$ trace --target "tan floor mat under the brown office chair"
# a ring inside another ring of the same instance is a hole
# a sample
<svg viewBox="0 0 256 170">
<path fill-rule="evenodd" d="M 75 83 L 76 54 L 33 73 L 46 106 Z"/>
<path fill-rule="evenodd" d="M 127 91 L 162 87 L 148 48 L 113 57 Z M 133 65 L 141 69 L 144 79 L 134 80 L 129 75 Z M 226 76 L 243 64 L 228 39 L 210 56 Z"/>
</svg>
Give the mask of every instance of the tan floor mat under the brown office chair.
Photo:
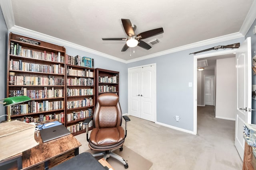
<svg viewBox="0 0 256 170">
<path fill-rule="evenodd" d="M 86 152 L 95 153 L 94 150 L 86 150 Z M 141 155 L 137 154 L 133 150 L 124 146 L 123 151 L 120 152 L 119 149 L 115 150 L 114 153 L 122 156 L 124 160 L 128 163 L 128 170 L 149 170 L 152 166 L 152 162 L 145 159 Z M 96 157 L 96 159 L 101 159 L 102 156 Z M 124 165 L 118 160 L 110 157 L 107 159 L 107 162 L 115 169 L 115 170 L 125 170 Z"/>
</svg>

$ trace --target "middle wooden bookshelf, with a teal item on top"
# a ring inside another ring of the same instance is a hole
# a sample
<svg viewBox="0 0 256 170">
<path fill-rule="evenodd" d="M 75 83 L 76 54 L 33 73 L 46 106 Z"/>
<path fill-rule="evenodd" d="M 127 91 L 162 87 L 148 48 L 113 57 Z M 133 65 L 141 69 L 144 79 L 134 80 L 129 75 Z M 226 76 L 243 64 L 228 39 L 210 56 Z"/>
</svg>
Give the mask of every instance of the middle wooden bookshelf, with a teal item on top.
<svg viewBox="0 0 256 170">
<path fill-rule="evenodd" d="M 66 127 L 79 135 L 85 132 L 83 121 L 94 113 L 95 69 L 66 64 L 66 73 Z"/>
</svg>

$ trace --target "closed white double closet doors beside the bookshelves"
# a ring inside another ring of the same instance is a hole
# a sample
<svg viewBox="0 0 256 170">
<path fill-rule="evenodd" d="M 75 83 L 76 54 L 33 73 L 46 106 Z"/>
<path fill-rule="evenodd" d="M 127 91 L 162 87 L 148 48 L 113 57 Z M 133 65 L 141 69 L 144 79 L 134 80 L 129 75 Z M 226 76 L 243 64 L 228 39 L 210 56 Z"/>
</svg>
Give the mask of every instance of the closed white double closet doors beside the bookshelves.
<svg viewBox="0 0 256 170">
<path fill-rule="evenodd" d="M 156 77 L 155 65 L 128 69 L 128 113 L 155 121 Z"/>
</svg>

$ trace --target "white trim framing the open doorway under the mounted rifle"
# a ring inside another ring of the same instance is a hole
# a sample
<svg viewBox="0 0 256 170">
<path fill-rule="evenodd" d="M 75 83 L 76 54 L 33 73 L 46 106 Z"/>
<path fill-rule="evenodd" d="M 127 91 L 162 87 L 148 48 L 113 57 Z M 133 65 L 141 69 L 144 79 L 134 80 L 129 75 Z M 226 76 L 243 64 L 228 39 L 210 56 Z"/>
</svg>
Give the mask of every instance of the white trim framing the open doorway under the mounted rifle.
<svg viewBox="0 0 256 170">
<path fill-rule="evenodd" d="M 193 128 L 193 134 L 197 134 L 197 59 L 204 58 L 204 57 L 212 57 L 212 56 L 217 56 L 217 55 L 224 55 L 224 54 L 231 54 L 235 53 L 237 49 L 230 49 L 230 50 L 224 50 L 224 51 L 217 51 L 213 53 L 206 53 L 206 54 L 201 54 L 201 55 L 194 55 L 194 88 L 193 88 L 193 93 L 194 93 L 194 128 Z"/>
</svg>

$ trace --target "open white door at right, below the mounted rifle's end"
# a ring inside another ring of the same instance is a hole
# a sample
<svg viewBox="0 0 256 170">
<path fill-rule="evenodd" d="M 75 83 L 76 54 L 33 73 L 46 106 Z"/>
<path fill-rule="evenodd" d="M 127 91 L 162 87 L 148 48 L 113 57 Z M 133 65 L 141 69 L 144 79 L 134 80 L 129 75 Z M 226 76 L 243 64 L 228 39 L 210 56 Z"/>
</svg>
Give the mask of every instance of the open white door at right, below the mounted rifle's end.
<svg viewBox="0 0 256 170">
<path fill-rule="evenodd" d="M 248 37 L 236 51 L 236 76 L 237 76 L 237 107 L 235 146 L 244 159 L 243 125 L 251 123 L 252 112 L 252 70 L 251 70 L 251 38 Z"/>
</svg>

